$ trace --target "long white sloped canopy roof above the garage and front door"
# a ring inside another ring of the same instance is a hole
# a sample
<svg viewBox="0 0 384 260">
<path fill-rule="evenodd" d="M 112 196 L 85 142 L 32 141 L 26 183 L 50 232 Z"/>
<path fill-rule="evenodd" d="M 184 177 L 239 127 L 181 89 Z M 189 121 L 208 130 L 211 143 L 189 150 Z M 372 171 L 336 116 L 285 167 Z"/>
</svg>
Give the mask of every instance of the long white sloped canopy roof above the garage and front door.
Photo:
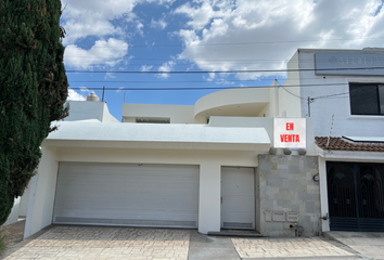
<svg viewBox="0 0 384 260">
<path fill-rule="evenodd" d="M 63 121 L 43 146 L 268 151 L 265 128 Z"/>
</svg>

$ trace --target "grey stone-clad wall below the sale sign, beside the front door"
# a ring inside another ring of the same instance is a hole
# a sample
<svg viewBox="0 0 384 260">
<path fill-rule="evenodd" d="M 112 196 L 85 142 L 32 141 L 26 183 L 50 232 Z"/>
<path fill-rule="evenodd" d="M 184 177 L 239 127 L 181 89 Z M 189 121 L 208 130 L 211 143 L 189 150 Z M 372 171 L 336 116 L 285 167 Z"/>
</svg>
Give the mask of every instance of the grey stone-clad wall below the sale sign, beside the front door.
<svg viewBox="0 0 384 260">
<path fill-rule="evenodd" d="M 294 236 L 294 229 L 290 229 L 294 222 L 289 222 L 287 212 L 298 213 L 303 235 L 321 232 L 320 188 L 319 182 L 312 180 L 318 173 L 317 156 L 259 155 L 256 226 L 263 235 Z M 277 212 L 274 220 L 273 212 Z"/>
</svg>

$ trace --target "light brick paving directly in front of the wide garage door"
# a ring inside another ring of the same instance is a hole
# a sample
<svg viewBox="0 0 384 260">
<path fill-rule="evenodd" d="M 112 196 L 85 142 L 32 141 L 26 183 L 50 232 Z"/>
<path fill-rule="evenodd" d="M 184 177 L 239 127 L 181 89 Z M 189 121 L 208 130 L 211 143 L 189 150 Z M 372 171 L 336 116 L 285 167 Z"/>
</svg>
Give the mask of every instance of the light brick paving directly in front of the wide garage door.
<svg viewBox="0 0 384 260">
<path fill-rule="evenodd" d="M 183 230 L 55 226 L 5 259 L 187 260 L 189 237 Z"/>
</svg>

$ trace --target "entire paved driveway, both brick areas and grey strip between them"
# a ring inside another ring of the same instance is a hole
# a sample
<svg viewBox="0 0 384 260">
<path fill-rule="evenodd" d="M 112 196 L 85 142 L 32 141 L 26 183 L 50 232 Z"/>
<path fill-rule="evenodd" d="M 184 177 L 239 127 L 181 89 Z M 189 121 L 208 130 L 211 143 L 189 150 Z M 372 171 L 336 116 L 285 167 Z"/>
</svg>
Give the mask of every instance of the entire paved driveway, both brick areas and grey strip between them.
<svg viewBox="0 0 384 260">
<path fill-rule="evenodd" d="M 350 259 L 354 251 L 322 237 L 234 238 L 190 230 L 53 226 L 9 255 L 15 259 Z"/>
</svg>

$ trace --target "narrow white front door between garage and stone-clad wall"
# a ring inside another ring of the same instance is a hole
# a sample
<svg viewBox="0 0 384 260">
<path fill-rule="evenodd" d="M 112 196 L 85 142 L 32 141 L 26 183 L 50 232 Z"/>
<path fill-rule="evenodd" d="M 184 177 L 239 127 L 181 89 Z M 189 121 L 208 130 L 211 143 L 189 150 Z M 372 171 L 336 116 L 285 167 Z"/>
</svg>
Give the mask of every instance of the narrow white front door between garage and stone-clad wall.
<svg viewBox="0 0 384 260">
<path fill-rule="evenodd" d="M 255 230 L 254 168 L 221 168 L 221 227 Z"/>
</svg>

